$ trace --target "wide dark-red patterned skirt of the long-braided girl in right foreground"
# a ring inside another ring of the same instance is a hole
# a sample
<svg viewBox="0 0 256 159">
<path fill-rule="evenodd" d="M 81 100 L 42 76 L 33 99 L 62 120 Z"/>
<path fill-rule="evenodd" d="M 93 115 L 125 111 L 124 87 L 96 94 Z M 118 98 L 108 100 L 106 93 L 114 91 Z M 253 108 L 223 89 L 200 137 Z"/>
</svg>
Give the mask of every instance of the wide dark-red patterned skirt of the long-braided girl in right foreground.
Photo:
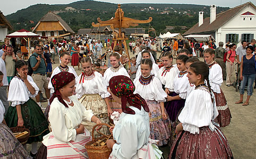
<svg viewBox="0 0 256 159">
<path fill-rule="evenodd" d="M 233 158 L 227 139 L 220 133 L 219 127 L 215 131 L 211 131 L 209 127 L 199 129 L 199 134 L 180 132 L 171 147 L 169 159 Z"/>
</svg>

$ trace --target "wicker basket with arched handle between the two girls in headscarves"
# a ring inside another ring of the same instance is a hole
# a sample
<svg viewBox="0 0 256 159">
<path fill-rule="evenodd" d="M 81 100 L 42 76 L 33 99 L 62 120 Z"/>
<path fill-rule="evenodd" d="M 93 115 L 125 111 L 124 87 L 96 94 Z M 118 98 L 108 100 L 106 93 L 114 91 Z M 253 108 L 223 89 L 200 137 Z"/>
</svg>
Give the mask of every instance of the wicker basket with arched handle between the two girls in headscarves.
<svg viewBox="0 0 256 159">
<path fill-rule="evenodd" d="M 88 142 L 86 144 L 86 149 L 87 149 L 87 153 L 88 153 L 88 156 L 90 159 L 107 159 L 110 155 L 110 153 L 112 152 L 112 149 L 111 148 L 108 148 L 107 145 L 104 145 L 104 146 L 91 146 L 93 143 L 97 142 L 98 140 L 101 140 L 103 138 L 105 138 L 104 136 L 103 137 L 99 137 L 97 139 L 94 138 L 94 131 L 95 131 L 95 128 L 99 125 L 105 125 L 107 127 L 110 127 L 108 124 L 106 123 L 99 123 L 97 125 L 95 125 L 93 128 L 92 128 L 92 140 L 90 142 Z"/>
</svg>

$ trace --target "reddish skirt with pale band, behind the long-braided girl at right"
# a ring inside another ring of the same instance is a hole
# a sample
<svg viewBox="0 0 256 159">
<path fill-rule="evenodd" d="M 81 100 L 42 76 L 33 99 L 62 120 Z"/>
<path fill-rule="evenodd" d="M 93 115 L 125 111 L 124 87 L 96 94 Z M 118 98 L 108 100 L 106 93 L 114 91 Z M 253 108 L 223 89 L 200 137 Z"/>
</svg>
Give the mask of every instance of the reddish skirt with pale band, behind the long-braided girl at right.
<svg viewBox="0 0 256 159">
<path fill-rule="evenodd" d="M 220 89 L 220 93 L 215 93 L 215 101 L 219 115 L 214 120 L 219 123 L 220 127 L 228 126 L 231 121 L 231 112 L 228 108 L 228 104 L 223 91 Z"/>
</svg>

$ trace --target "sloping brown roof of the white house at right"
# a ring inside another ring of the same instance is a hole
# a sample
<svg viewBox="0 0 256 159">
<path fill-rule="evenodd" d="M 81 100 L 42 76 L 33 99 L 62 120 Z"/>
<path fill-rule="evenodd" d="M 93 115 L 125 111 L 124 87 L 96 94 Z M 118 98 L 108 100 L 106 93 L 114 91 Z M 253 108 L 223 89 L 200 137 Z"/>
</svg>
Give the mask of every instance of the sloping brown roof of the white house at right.
<svg viewBox="0 0 256 159">
<path fill-rule="evenodd" d="M 200 27 L 198 27 L 198 23 L 197 23 L 192 28 L 187 30 L 183 35 L 186 36 L 189 34 L 216 31 L 226 22 L 231 20 L 232 17 L 234 17 L 238 12 L 240 12 L 244 7 L 248 5 L 252 5 L 256 9 L 256 7 L 251 2 L 236 6 L 225 12 L 217 14 L 215 21 L 213 21 L 212 23 L 210 23 L 210 17 L 207 17 L 206 19 L 203 20 L 203 24 L 200 25 Z"/>
</svg>

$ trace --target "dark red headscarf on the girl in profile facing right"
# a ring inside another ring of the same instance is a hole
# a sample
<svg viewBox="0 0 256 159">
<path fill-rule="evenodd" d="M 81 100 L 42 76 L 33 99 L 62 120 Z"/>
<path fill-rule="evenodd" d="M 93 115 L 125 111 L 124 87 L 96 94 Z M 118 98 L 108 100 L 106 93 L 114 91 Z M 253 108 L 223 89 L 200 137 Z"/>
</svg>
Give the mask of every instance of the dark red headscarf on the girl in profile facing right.
<svg viewBox="0 0 256 159">
<path fill-rule="evenodd" d="M 55 97 L 58 98 L 58 101 L 65 105 L 65 107 L 68 108 L 67 104 L 64 102 L 64 100 L 61 97 L 61 92 L 59 92 L 59 89 L 61 89 L 63 86 L 69 84 L 75 80 L 75 76 L 72 73 L 69 72 L 60 72 L 53 76 L 52 78 L 52 84 L 54 87 L 54 93 L 52 98 L 50 98 L 50 104 L 53 102 Z"/>
</svg>

